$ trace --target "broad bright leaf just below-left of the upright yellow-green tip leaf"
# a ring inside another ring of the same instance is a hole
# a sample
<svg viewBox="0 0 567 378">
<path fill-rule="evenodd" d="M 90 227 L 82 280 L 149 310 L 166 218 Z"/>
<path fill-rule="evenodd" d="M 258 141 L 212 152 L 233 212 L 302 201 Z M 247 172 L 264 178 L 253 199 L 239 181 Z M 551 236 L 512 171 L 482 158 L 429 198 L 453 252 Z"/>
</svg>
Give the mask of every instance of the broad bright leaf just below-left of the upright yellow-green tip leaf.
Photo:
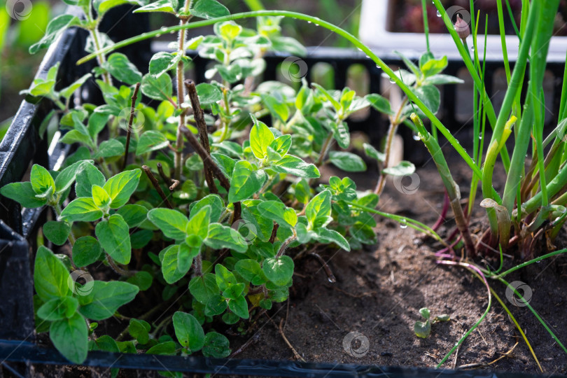
<svg viewBox="0 0 567 378">
<path fill-rule="evenodd" d="M 239 202 L 252 197 L 254 193 L 258 193 L 258 190 L 262 188 L 266 179 L 267 175 L 263 169 L 254 169 L 251 163 L 246 160 L 238 161 L 235 164 L 234 172 L 232 172 L 228 200 L 230 202 Z"/>
</svg>

